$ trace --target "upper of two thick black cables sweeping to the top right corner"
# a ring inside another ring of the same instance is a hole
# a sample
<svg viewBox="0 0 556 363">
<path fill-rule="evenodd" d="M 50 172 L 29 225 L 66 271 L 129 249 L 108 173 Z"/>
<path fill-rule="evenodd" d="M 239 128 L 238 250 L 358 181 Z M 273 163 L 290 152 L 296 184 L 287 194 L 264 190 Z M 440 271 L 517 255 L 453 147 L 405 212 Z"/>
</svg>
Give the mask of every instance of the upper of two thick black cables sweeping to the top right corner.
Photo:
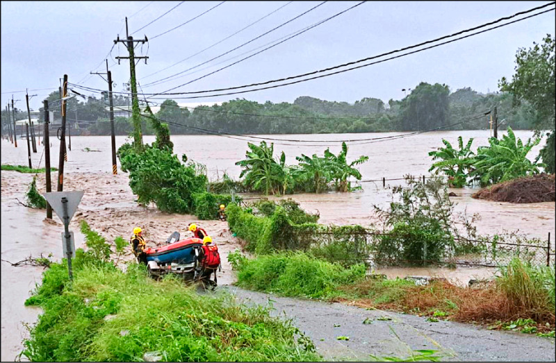
<svg viewBox="0 0 556 363">
<path fill-rule="evenodd" d="M 347 67 L 349 65 L 354 65 L 354 64 L 357 64 L 357 63 L 360 63 L 360 62 L 365 62 L 367 60 L 372 60 L 372 59 L 380 58 L 380 57 L 383 57 L 383 56 L 389 56 L 390 54 L 393 54 L 393 53 L 399 53 L 400 51 L 405 51 L 405 50 L 408 50 L 408 49 L 413 49 L 413 48 L 416 48 L 416 47 L 420 47 L 420 46 L 423 46 L 425 44 L 438 42 L 439 40 L 443 40 L 443 39 L 446 39 L 446 38 L 449 38 L 449 37 L 455 37 L 456 35 L 460 35 L 460 34 L 463 34 L 463 33 L 468 33 L 469 31 L 474 31 L 474 30 L 477 30 L 479 28 L 484 28 L 485 26 L 496 24 L 496 23 L 502 22 L 502 21 L 507 20 L 507 19 L 512 19 L 513 17 L 516 17 L 518 15 L 523 15 L 523 14 L 526 14 L 528 12 L 532 12 L 532 11 L 535 11 L 535 10 L 539 10 L 541 8 L 545 8 L 546 6 L 553 5 L 554 3 L 556 3 L 556 2 L 553 1 L 552 3 L 548 3 L 548 4 L 543 5 L 543 6 L 538 6 L 537 8 L 532 8 L 530 10 L 525 10 L 523 12 L 517 12 L 514 15 L 510 15 L 508 17 L 502 17 L 502 18 L 497 19 L 493 22 L 482 24 L 480 26 L 475 26 L 473 28 L 468 28 L 468 29 L 465 29 L 464 31 L 459 31 L 459 32 L 453 33 L 451 35 L 444 35 L 443 37 L 439 37 L 439 38 L 436 38 L 434 40 L 427 40 L 426 42 L 421 42 L 419 44 L 415 44 L 415 45 L 412 45 L 412 46 L 409 46 L 409 47 L 404 47 L 404 48 L 401 48 L 401 49 L 396 49 L 394 51 L 389 51 L 389 52 L 386 52 L 386 53 L 382 53 L 382 54 L 379 54 L 378 56 L 371 56 L 371 57 L 368 57 L 368 58 L 363 58 L 363 59 L 360 59 L 360 60 L 356 60 L 354 62 L 347 62 L 347 63 L 344 63 L 342 65 L 336 65 L 334 67 L 319 69 L 318 71 L 312 71 L 312 72 L 309 72 L 309 73 L 306 73 L 306 74 L 300 74 L 300 75 L 297 75 L 297 76 L 290 76 L 290 77 L 286 77 L 286 78 L 279 78 L 279 79 L 275 79 L 275 80 L 272 80 L 272 81 L 265 81 L 265 82 L 262 82 L 262 83 L 252 83 L 250 85 L 241 85 L 241 86 L 237 86 L 237 87 L 227 87 L 227 88 L 220 88 L 220 89 L 206 90 L 206 91 L 197 91 L 197 92 L 175 92 L 175 93 L 168 93 L 168 94 L 197 94 L 197 93 L 207 93 L 207 92 L 219 92 L 219 91 L 225 91 L 225 90 L 236 90 L 236 89 L 245 88 L 245 87 L 253 87 L 253 86 L 256 86 L 256 85 L 266 85 L 266 84 L 269 84 L 269 83 L 276 83 L 276 82 L 280 82 L 280 81 L 288 81 L 288 80 L 294 79 L 294 78 L 300 78 L 300 77 L 304 77 L 304 76 L 311 76 L 312 74 L 318 74 L 318 73 L 322 73 L 324 71 L 330 71 L 330 70 L 338 69 L 338 68 L 341 68 L 341 67 Z M 552 11 L 552 10 L 554 10 L 554 9 L 550 9 L 550 10 L 547 10 L 545 12 Z M 535 15 L 532 15 L 532 16 L 537 16 L 537 15 L 541 15 L 541 14 L 543 14 L 543 12 L 539 12 L 539 13 L 537 13 Z M 529 17 L 524 17 L 524 18 L 518 19 L 517 21 L 514 21 L 514 22 L 518 22 L 518 21 L 528 19 L 528 18 Z M 509 24 L 514 23 L 514 22 L 509 22 L 509 23 L 503 24 L 502 26 L 509 25 Z M 490 28 L 489 30 L 492 30 L 492 29 L 495 29 L 495 28 L 498 28 L 498 27 L 500 27 L 500 26 Z M 473 35 L 476 35 L 476 34 L 480 34 L 480 33 L 474 33 Z M 459 39 L 464 39 L 464 37 L 461 37 Z M 447 42 L 442 43 L 442 44 L 447 44 Z M 438 44 L 438 45 L 442 45 L 442 44 Z M 425 48 L 425 49 L 430 49 L 430 48 L 431 47 Z M 423 50 L 425 50 L 425 49 L 423 49 Z M 411 54 L 411 53 L 407 53 L 407 54 Z M 390 59 L 393 59 L 393 58 L 390 58 Z M 314 79 L 314 78 L 311 78 L 311 79 Z M 185 83 L 184 85 L 187 85 L 187 84 L 188 83 Z M 180 85 L 178 87 L 181 87 L 181 86 L 182 85 Z M 156 95 L 156 94 L 154 94 L 154 95 Z"/>
</svg>

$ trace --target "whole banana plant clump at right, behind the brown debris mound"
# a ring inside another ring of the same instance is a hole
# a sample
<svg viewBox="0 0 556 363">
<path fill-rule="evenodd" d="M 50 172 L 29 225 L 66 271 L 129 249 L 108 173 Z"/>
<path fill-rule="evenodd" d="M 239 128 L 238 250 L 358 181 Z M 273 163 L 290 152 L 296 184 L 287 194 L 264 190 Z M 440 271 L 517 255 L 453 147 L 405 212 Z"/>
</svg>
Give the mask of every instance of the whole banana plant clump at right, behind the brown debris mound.
<svg viewBox="0 0 556 363">
<path fill-rule="evenodd" d="M 429 153 L 432 160 L 440 159 L 432 164 L 429 171 L 436 169 L 435 174 L 448 176 L 448 183 L 454 187 L 464 187 L 473 182 L 485 187 L 521 176 L 539 174 L 540 168 L 546 167 L 538 162 L 539 158 L 534 162 L 527 158 L 531 149 L 541 142 L 539 137 L 529 139 L 524 145 L 512 128 L 508 127 L 507 135 L 503 135 L 501 140 L 491 137 L 489 146 L 479 146 L 477 155 L 470 150 L 472 141 L 473 139 L 469 140 L 464 147 L 461 136 L 458 137 L 458 151 L 443 139 L 446 147 Z"/>
</svg>

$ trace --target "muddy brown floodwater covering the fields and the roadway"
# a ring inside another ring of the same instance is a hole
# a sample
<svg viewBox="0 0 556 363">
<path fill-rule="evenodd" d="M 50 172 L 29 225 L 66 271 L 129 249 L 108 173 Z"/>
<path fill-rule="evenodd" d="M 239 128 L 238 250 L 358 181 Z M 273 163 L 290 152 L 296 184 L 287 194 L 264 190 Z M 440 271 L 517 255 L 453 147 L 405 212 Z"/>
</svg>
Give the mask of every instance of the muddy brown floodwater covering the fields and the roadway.
<svg viewBox="0 0 556 363">
<path fill-rule="evenodd" d="M 340 144 L 334 140 L 366 139 L 370 137 L 384 137 L 400 135 L 400 133 L 368 133 L 368 134 L 329 134 L 329 135 L 272 135 L 275 139 L 330 140 L 330 144 L 323 146 L 291 146 L 275 144 L 276 155 L 281 151 L 286 153 L 286 162 L 295 163 L 295 156 L 304 153 L 322 155 L 329 146 L 332 153 L 338 153 Z M 363 180 L 382 180 L 382 178 L 402 178 L 406 174 L 414 176 L 429 175 L 427 171 L 431 164 L 428 152 L 441 146 L 441 139 L 457 143 L 457 137 L 462 135 L 464 142 L 474 137 L 473 151 L 480 145 L 488 144 L 488 130 L 443 131 L 425 133 L 400 140 L 375 142 L 372 144 L 349 144 L 348 160 L 359 155 L 368 155 L 370 160 L 359 168 Z M 516 136 L 526 140 L 532 136 L 531 131 L 517 130 Z M 116 146 L 121 146 L 126 137 L 117 136 Z M 153 142 L 154 136 L 145 136 L 144 142 Z M 51 166 L 58 167 L 59 141 L 51 137 Z M 181 157 L 186 153 L 189 160 L 200 162 L 207 167 L 208 177 L 215 180 L 226 172 L 232 178 L 238 178 L 240 167 L 234 163 L 245 157 L 247 142 L 217 136 L 173 135 L 174 152 Z M 6 140 L 1 140 L 2 164 L 27 164 L 27 150 L 24 142 L 19 142 L 15 148 Z M 291 142 L 284 142 L 291 144 Z M 534 158 L 539 153 L 543 142 L 535 146 L 530 153 Z M 85 148 L 97 151 L 85 151 Z M 42 146 L 38 153 L 31 153 L 33 167 L 44 167 Z M 220 221 L 198 221 L 195 216 L 167 214 L 158 212 L 154 206 L 143 208 L 137 205 L 128 183 L 126 173 L 111 174 L 111 142 L 108 136 L 80 136 L 72 137 L 72 151 L 67 153 L 65 164 L 65 190 L 83 190 L 83 200 L 76 215 L 70 223 L 70 230 L 76 236 L 76 246 L 83 244 L 83 235 L 79 233 L 79 221 L 85 219 L 91 228 L 99 231 L 108 242 L 122 235 L 129 238 L 134 226 L 141 226 L 145 230 L 147 246 L 162 244 L 167 236 L 178 230 L 182 236 L 189 235 L 186 226 L 190 222 L 198 223 L 213 236 L 222 252 L 222 272 L 218 275 L 218 282 L 222 285 L 234 282 L 234 276 L 227 262 L 227 253 L 239 247 L 239 242 L 229 233 L 227 223 Z M 53 190 L 56 190 L 57 172 L 52 174 Z M 1 258 L 10 262 L 24 260 L 29 255 L 33 257 L 53 253 L 54 258 L 60 259 L 62 254 L 61 233 L 63 225 L 56 215 L 54 220 L 45 219 L 46 212 L 30 210 L 17 203 L 24 201 L 24 194 L 31 183 L 31 174 L 19 174 L 16 171 L 1 172 Z M 391 188 L 400 181 L 387 182 L 383 189 L 382 182 L 363 182 L 363 191 L 354 193 L 327 194 L 296 194 L 293 197 L 300 202 L 302 208 L 309 212 L 320 213 L 320 223 L 361 224 L 368 226 L 377 222 L 373 212 L 373 205 L 386 207 L 390 201 Z M 44 174 L 38 178 L 38 188 L 44 192 Z M 528 237 L 546 239 L 548 233 L 555 235 L 555 203 L 511 204 L 471 199 L 476 189 L 452 189 L 457 196 L 452 201 L 457 203 L 455 212 L 480 214 L 481 219 L 476 222 L 477 232 L 486 235 L 502 233 L 504 231 L 518 231 Z M 554 239 L 554 238 L 553 238 Z M 127 252 L 123 261 L 131 260 L 131 252 Z M 469 278 L 491 276 L 492 269 L 458 268 L 448 269 L 380 269 L 378 273 L 385 273 L 390 278 L 407 275 L 445 276 L 463 284 Z M 1 360 L 10 361 L 22 349 L 22 337 L 26 336 L 26 329 L 22 322 L 33 323 L 40 313 L 34 307 L 24 307 L 24 301 L 29 296 L 35 282 L 40 282 L 42 268 L 40 267 L 12 267 L 7 262 L 1 262 Z"/>
</svg>

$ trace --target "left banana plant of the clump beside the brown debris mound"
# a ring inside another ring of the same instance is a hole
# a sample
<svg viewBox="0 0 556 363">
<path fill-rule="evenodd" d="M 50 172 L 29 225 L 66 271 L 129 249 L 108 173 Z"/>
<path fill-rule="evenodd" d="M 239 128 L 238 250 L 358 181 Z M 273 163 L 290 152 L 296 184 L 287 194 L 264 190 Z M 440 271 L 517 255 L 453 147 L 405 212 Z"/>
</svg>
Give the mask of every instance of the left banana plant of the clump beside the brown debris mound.
<svg viewBox="0 0 556 363">
<path fill-rule="evenodd" d="M 457 137 L 458 149 L 454 149 L 452 144 L 447 140 L 442 139 L 445 147 L 439 147 L 436 151 L 431 151 L 429 156 L 432 156 L 432 160 L 439 160 L 434 162 L 430 167 L 429 171 L 434 171 L 434 174 L 442 173 L 448 176 L 448 185 L 450 187 L 461 188 L 466 185 L 467 176 L 471 170 L 471 165 L 473 164 L 473 151 L 471 151 L 471 144 L 473 143 L 473 137 L 469 139 L 466 146 L 464 147 L 464 140 L 461 136 Z"/>
</svg>

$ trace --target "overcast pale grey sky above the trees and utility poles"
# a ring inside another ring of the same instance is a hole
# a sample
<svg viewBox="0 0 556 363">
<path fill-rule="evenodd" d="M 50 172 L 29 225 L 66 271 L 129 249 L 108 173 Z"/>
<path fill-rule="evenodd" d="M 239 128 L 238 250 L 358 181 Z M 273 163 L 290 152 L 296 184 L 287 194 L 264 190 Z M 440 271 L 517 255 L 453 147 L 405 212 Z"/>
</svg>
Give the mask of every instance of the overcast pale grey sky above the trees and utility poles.
<svg viewBox="0 0 556 363">
<path fill-rule="evenodd" d="M 136 48 L 137 56 L 149 56 L 147 65 L 139 62 L 137 67 L 142 91 L 147 93 L 163 92 L 208 74 L 254 51 L 238 56 L 240 53 L 252 51 L 359 3 L 328 1 L 268 35 L 191 70 L 195 71 L 193 74 L 186 72 L 185 76 L 147 87 L 152 81 L 195 67 L 234 49 L 320 3 L 225 1 L 188 24 L 156 36 L 220 2 L 2 1 L 2 109 L 11 99 L 13 91 L 26 88 L 30 90 L 29 94 L 38 94 L 31 99 L 31 108 L 38 109 L 42 99 L 52 90 L 31 90 L 53 87 L 57 90 L 63 74 L 68 75 L 70 83 L 80 82 L 81 85 L 105 90 L 105 81 L 88 74 L 90 71 L 106 71 L 104 59 L 114 44 L 113 40 L 118 34 L 120 38 L 125 37 L 126 16 L 129 33 L 133 33 L 136 39 L 145 35 L 149 38 L 148 45 Z M 332 67 L 449 35 L 548 2 L 368 1 L 268 51 L 172 92 L 234 87 Z M 135 33 L 174 6 L 177 6 L 174 10 Z M 281 6 L 284 7 L 277 10 Z M 253 26 L 193 56 L 274 10 L 277 11 Z M 177 101 L 227 101 L 239 97 L 261 103 L 278 103 L 293 102 L 299 96 L 313 96 L 350 103 L 363 97 L 376 97 L 386 103 L 389 99 L 402 99 L 402 89 L 414 88 L 422 81 L 445 83 L 452 92 L 462 87 L 471 87 L 482 93 L 493 92 L 498 90 L 498 80 L 502 76 L 509 78 L 514 73 L 517 49 L 532 47 L 533 42 L 541 42 L 547 33 L 555 33 L 554 11 L 441 47 L 334 76 L 272 90 Z M 114 91 L 122 91 L 123 83 L 129 81 L 129 61 L 122 60 L 121 65 L 117 65 L 116 56 L 127 56 L 123 44 L 113 47 L 108 55 L 108 65 L 116 83 Z M 190 56 L 193 57 L 160 71 Z M 216 65 L 218 62 L 221 63 Z M 153 74 L 156 71 L 159 72 Z M 24 108 L 25 93 L 13 92 L 13 95 L 14 99 L 22 100 L 16 103 L 16 107 Z"/>
</svg>

